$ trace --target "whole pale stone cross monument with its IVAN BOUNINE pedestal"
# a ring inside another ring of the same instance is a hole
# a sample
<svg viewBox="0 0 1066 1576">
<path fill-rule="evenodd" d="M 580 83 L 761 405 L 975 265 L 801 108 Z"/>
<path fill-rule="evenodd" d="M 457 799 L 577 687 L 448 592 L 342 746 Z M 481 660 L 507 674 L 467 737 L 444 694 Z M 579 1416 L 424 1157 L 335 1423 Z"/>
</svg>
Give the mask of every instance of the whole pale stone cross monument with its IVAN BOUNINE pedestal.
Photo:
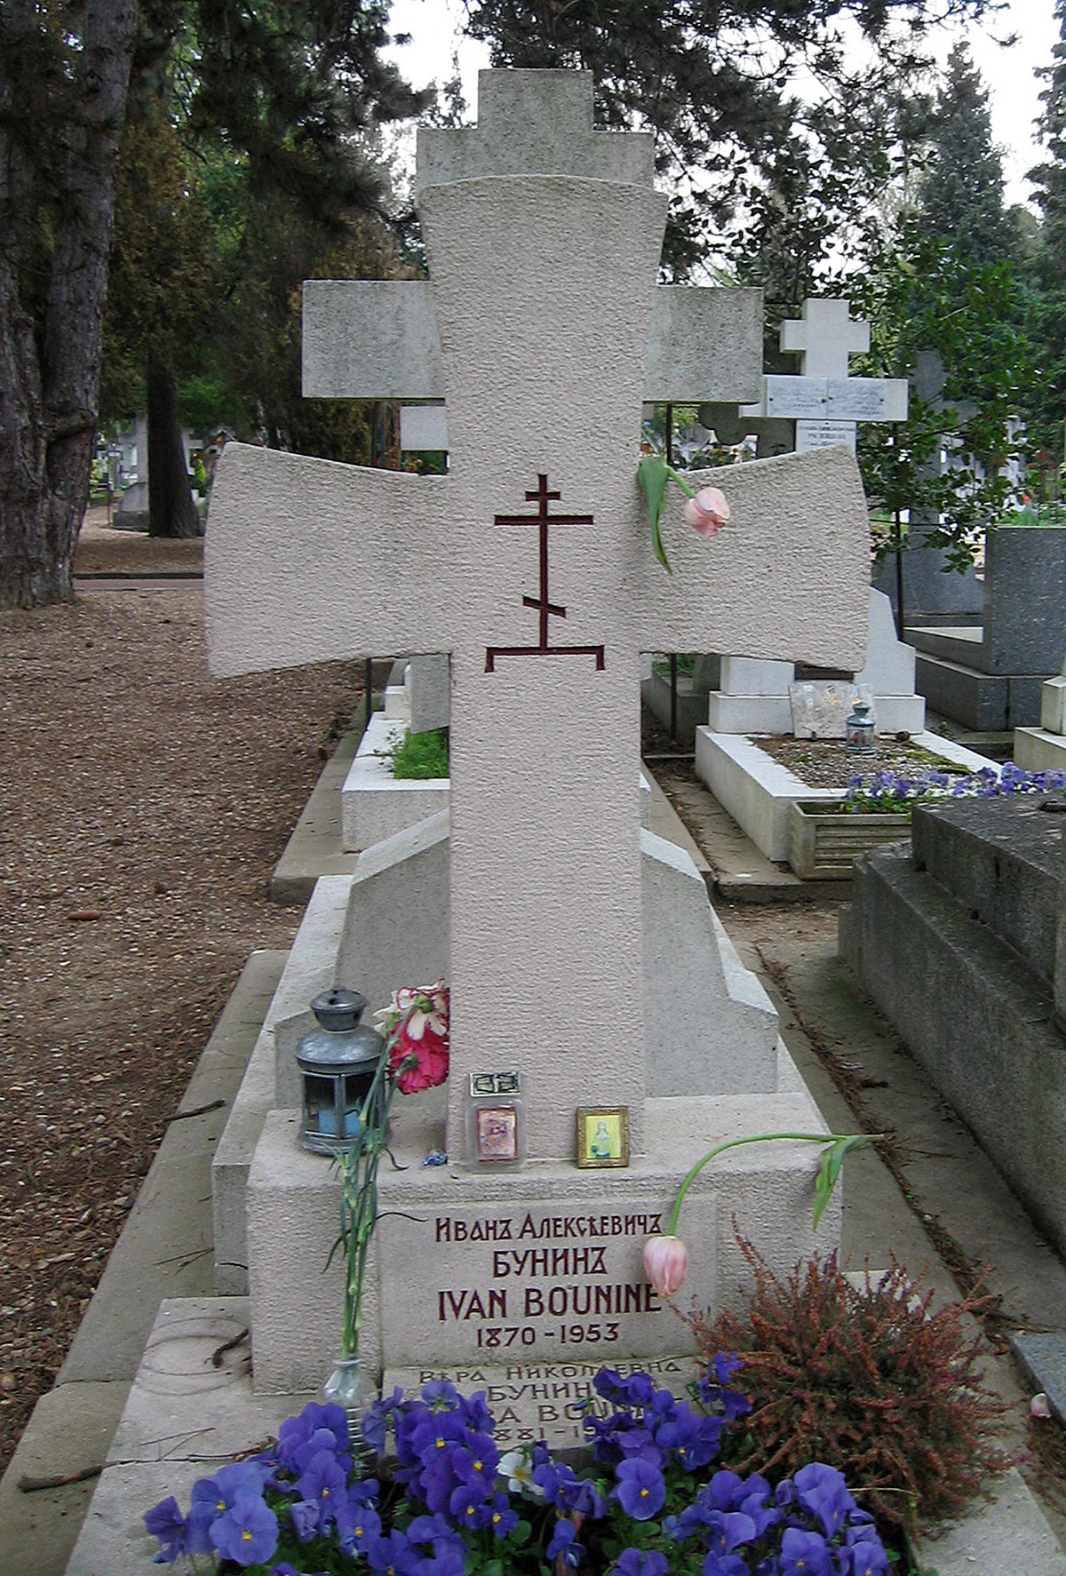
<svg viewBox="0 0 1066 1576">
<path fill-rule="evenodd" d="M 653 949 L 667 982 L 654 996 L 648 916 L 661 941 L 691 872 L 640 834 L 636 692 L 640 654 L 662 646 L 861 668 L 863 489 L 847 446 L 714 471 L 729 530 L 706 544 L 669 500 L 673 574 L 658 566 L 636 479 L 642 402 L 752 399 L 760 304 L 754 292 L 656 287 L 667 202 L 651 140 L 594 131 L 591 102 L 585 76 L 483 72 L 476 128 L 419 132 L 429 281 L 308 287 L 306 392 L 443 396 L 449 474 L 227 444 L 211 501 L 216 673 L 386 649 L 449 657 L 449 812 L 361 856 L 352 883 L 393 894 L 375 913 L 396 950 L 383 963 L 385 942 L 356 920 L 364 960 L 390 965 L 391 985 L 421 983 L 407 972 L 413 927 L 426 979 L 446 949 L 453 1002 L 446 1111 L 429 1097 L 394 1108 L 407 1169 L 378 1177 L 364 1341 L 367 1362 L 391 1371 L 669 1352 L 681 1332 L 640 1248 L 680 1179 L 716 1138 L 818 1121 L 795 1076 L 746 1092 L 743 1048 L 729 1092 L 694 1092 L 705 1073 L 714 1086 L 708 1054 L 683 1091 L 648 1094 L 648 1069 L 670 1050 L 662 1002 L 678 952 Z M 494 408 L 508 410 L 508 441 L 489 448 Z M 410 879 L 442 868 L 442 849 L 446 925 Z M 326 908 L 347 901 L 319 889 Z M 319 972 L 336 968 L 333 957 Z M 290 1091 L 276 1040 L 273 1076 Z M 500 1173 L 472 1163 L 465 1114 L 472 1075 L 509 1070 L 528 1162 Z M 588 1106 L 628 1111 L 628 1168 L 576 1166 Z M 334 1284 L 319 1270 L 336 1182 L 293 1128 L 285 1106 L 266 1116 L 248 1179 L 266 1388 L 320 1382 L 334 1355 L 315 1336 Z M 419 1165 L 430 1143 L 448 1166 Z M 692 1289 L 708 1303 L 744 1278 L 733 1217 L 779 1264 L 812 1247 L 812 1152 L 740 1154 L 686 1202 Z"/>
</svg>

